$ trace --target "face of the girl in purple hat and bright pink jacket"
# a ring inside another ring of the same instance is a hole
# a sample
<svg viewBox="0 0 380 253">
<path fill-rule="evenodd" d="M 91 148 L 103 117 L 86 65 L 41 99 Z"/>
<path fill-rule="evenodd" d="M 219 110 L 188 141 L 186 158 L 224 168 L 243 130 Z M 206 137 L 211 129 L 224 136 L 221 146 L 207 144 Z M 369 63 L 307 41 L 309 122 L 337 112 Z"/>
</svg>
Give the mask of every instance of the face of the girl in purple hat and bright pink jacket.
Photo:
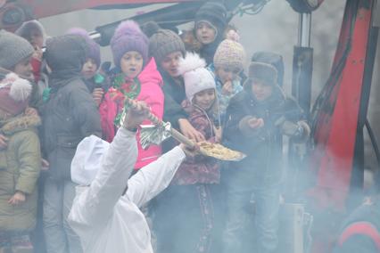
<svg viewBox="0 0 380 253">
<path fill-rule="evenodd" d="M 120 69 L 128 78 L 136 78 L 143 69 L 143 56 L 136 51 L 124 53 L 120 59 Z"/>
</svg>

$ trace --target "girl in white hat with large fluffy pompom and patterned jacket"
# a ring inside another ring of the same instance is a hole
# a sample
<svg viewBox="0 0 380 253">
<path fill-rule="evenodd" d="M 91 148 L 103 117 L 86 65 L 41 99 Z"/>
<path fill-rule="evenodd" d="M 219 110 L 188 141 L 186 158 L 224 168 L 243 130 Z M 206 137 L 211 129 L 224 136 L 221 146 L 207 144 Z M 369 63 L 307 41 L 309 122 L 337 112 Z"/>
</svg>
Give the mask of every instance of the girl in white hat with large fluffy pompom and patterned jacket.
<svg viewBox="0 0 380 253">
<path fill-rule="evenodd" d="M 198 54 L 187 53 L 178 71 L 185 79 L 187 101 L 183 105 L 189 113 L 189 122 L 207 141 L 215 143 L 218 136 L 212 116 L 218 110 L 217 95 L 215 80 L 205 66 L 206 62 Z M 219 184 L 219 179 L 219 164 L 215 159 L 197 156 L 184 161 L 165 198 L 161 198 L 161 215 L 157 219 L 162 224 L 156 227 L 158 252 L 213 249 L 214 185 Z"/>
</svg>

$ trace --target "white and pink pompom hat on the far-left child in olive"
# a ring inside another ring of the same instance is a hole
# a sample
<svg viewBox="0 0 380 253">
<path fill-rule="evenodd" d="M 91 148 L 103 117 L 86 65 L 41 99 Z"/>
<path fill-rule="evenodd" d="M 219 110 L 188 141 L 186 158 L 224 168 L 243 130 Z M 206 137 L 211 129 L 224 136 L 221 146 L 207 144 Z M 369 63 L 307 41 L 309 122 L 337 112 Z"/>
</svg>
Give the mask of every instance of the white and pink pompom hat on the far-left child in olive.
<svg viewBox="0 0 380 253">
<path fill-rule="evenodd" d="M 18 115 L 29 104 L 32 86 L 26 79 L 10 73 L 0 82 L 0 110 Z"/>
</svg>

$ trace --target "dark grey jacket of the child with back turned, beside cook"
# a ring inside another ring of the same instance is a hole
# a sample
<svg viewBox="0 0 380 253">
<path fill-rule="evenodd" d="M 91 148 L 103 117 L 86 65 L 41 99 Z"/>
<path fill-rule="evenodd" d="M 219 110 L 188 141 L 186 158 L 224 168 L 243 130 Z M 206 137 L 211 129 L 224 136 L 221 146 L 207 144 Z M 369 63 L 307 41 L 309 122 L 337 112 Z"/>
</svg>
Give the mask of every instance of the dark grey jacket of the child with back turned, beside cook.
<svg viewBox="0 0 380 253">
<path fill-rule="evenodd" d="M 78 76 L 55 81 L 43 107 L 44 149 L 49 175 L 70 179 L 71 159 L 78 143 L 88 135 L 102 136 L 100 116 L 87 86 Z"/>
</svg>

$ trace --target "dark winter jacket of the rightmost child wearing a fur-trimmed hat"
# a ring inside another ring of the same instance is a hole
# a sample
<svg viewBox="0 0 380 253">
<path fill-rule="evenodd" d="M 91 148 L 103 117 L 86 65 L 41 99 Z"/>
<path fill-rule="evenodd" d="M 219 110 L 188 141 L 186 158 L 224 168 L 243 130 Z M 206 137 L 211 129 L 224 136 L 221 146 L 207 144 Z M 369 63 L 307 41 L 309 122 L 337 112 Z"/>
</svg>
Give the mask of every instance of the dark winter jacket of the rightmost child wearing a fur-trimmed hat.
<svg viewBox="0 0 380 253">
<path fill-rule="evenodd" d="M 264 126 L 253 135 L 246 135 L 239 127 L 240 121 L 247 116 L 264 120 Z M 283 133 L 277 122 L 285 118 L 296 123 L 302 116 L 298 103 L 286 98 L 278 86 L 266 102 L 258 102 L 246 90 L 236 94 L 227 107 L 223 143 L 233 150 L 244 152 L 247 157 L 229 164 L 228 184 L 239 189 L 279 184 L 282 177 Z"/>
</svg>

